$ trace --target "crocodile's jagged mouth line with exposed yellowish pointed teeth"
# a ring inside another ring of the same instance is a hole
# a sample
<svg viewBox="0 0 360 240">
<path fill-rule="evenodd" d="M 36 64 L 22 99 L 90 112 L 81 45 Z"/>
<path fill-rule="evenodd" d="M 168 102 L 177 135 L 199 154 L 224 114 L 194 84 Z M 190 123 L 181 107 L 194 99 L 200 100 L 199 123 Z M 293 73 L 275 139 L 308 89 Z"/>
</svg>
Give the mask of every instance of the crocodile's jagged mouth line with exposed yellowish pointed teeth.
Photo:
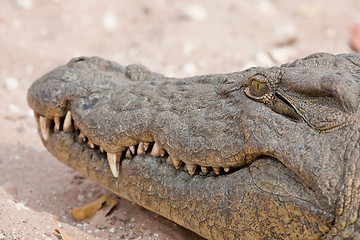
<svg viewBox="0 0 360 240">
<path fill-rule="evenodd" d="M 102 146 L 94 144 L 92 139 L 81 131 L 78 124 L 74 121 L 71 111 L 67 111 L 66 115 L 63 117 L 45 117 L 36 112 L 34 112 L 34 115 L 39 126 L 40 135 L 45 142 L 52 134 L 59 134 L 61 132 L 73 134 L 78 143 L 82 143 L 85 147 L 92 149 L 93 152 L 97 152 L 103 158 L 107 159 L 111 173 L 115 178 L 119 177 L 119 169 L 122 160 L 132 159 L 135 156 L 144 156 L 146 154 L 150 154 L 152 157 L 166 159 L 166 162 L 174 166 L 175 169 L 185 171 L 190 175 L 199 174 L 202 176 L 216 176 L 230 174 L 239 168 L 244 167 L 211 167 L 185 163 L 182 160 L 170 156 L 168 152 L 160 147 L 155 141 L 140 141 L 136 145 L 122 146 L 120 148 L 121 151 L 110 153 L 105 151 Z"/>
</svg>

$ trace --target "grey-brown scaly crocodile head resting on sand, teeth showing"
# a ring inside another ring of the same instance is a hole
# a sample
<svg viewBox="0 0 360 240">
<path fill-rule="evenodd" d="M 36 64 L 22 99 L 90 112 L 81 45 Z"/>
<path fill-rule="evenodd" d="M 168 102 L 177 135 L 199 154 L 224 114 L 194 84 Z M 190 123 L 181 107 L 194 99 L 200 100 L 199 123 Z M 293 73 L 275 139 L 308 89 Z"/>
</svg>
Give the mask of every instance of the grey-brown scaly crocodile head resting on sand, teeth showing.
<svg viewBox="0 0 360 240">
<path fill-rule="evenodd" d="M 206 239 L 360 239 L 360 55 L 170 78 L 78 57 L 28 90 L 45 147 Z"/>
</svg>

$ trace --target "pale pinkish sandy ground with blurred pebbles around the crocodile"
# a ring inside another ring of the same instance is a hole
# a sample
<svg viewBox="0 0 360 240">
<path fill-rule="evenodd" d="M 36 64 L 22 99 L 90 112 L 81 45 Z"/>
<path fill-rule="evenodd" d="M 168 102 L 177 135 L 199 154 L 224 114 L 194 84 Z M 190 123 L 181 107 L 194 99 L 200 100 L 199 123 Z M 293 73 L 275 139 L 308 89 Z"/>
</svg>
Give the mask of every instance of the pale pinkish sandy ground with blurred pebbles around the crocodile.
<svg viewBox="0 0 360 240">
<path fill-rule="evenodd" d="M 124 199 L 99 224 L 69 210 L 107 192 L 52 157 L 26 103 L 30 84 L 76 56 L 141 63 L 169 76 L 272 66 L 351 52 L 358 0 L 2 0 L 0 240 L 200 239 Z M 359 45 L 360 46 L 360 45 Z"/>
</svg>

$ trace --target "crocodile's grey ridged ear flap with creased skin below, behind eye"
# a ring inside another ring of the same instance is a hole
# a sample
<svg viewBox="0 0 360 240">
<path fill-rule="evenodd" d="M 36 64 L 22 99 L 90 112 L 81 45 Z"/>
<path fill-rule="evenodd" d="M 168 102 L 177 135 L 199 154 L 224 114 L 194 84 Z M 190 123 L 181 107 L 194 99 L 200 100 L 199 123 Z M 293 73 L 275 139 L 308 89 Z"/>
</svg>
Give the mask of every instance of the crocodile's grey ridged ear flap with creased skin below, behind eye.
<svg viewBox="0 0 360 240">
<path fill-rule="evenodd" d="M 299 79 L 299 74 L 303 76 Z M 346 73 L 317 75 L 316 72 L 288 72 L 277 90 L 313 128 L 340 126 L 346 115 L 359 108 L 360 87 Z"/>
</svg>

